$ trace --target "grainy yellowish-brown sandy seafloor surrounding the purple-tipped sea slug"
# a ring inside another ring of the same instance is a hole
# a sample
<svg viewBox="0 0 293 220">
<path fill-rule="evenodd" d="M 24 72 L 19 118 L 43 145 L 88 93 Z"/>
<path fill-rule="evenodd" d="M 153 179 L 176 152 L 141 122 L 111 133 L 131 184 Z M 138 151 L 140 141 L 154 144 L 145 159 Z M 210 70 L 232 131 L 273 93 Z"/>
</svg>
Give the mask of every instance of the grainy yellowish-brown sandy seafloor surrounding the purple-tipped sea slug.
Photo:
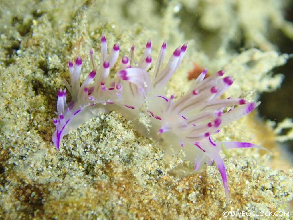
<svg viewBox="0 0 293 220">
<path fill-rule="evenodd" d="M 293 136 L 289 119 L 275 129 L 255 110 L 213 136 L 268 149 L 223 155 L 229 201 L 217 166 L 193 172 L 183 151 L 167 160 L 159 143 L 137 133 L 118 112 L 97 115 L 72 131 L 58 152 L 51 141 L 57 90 L 69 79 L 67 62 L 81 55 L 84 79 L 88 51 L 93 48 L 98 61 L 102 33 L 109 45 L 120 44 L 121 55 L 133 43 L 141 55 L 151 38 L 153 57 L 164 39 L 168 57 L 188 41 L 181 67 L 166 87 L 169 95 L 187 91 L 187 72 L 196 62 L 209 74 L 225 69 L 235 78 L 224 98 L 256 101 L 282 82 L 282 73 L 271 71 L 289 58 L 274 43 L 278 34 L 293 38 L 292 23 L 284 18 L 289 4 L 1 1 L 0 219 L 236 219 L 223 211 L 277 211 L 285 214 L 241 217 L 293 219 L 292 158 L 281 142 Z M 279 132 L 282 128 L 288 133 Z"/>
</svg>

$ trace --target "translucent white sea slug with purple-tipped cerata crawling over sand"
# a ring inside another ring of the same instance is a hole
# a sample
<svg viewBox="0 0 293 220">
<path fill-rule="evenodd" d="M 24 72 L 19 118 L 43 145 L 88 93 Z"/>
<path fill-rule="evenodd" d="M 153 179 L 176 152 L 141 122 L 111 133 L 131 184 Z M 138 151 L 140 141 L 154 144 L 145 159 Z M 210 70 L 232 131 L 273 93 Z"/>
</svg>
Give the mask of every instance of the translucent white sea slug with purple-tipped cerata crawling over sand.
<svg viewBox="0 0 293 220">
<path fill-rule="evenodd" d="M 195 170 L 203 163 L 215 162 L 229 197 L 226 169 L 219 152 L 229 148 L 262 147 L 251 143 L 215 142 L 211 136 L 219 132 L 221 127 L 251 112 L 259 103 L 244 99 L 220 99 L 234 82 L 230 76 L 223 77 L 223 70 L 206 79 L 207 70 L 204 70 L 184 96 L 176 101 L 174 95 L 166 97 L 164 86 L 178 69 L 186 48 L 187 44 L 176 48 L 165 68 L 162 68 L 166 52 L 164 42 L 154 71 L 149 74 L 148 69 L 152 62 L 151 41 L 147 42 L 144 54 L 138 62 L 134 60 L 132 46 L 129 57 L 122 57 L 116 79 L 112 80 L 108 77 L 109 72 L 117 61 L 120 49 L 118 44 L 114 44 L 108 55 L 107 41 L 102 35 L 100 68 L 97 68 L 91 50 L 90 62 L 93 70 L 81 85 L 81 57 L 77 57 L 74 65 L 69 61 L 71 82 L 69 84 L 65 81 L 65 85 L 72 100 L 66 102 L 65 89 L 58 91 L 58 117 L 53 119 L 56 131 L 52 135 L 56 149 L 59 149 L 64 135 L 99 112 L 115 110 L 128 120 L 134 120 L 140 109 L 147 109 L 145 113 L 150 116 L 150 131 L 147 132 L 143 125 L 135 122 L 138 130 L 153 138 L 164 133 L 164 140 L 170 146 L 168 149 L 171 152 L 183 149 L 186 159 L 194 162 Z M 230 106 L 232 108 L 224 112 Z"/>
</svg>

